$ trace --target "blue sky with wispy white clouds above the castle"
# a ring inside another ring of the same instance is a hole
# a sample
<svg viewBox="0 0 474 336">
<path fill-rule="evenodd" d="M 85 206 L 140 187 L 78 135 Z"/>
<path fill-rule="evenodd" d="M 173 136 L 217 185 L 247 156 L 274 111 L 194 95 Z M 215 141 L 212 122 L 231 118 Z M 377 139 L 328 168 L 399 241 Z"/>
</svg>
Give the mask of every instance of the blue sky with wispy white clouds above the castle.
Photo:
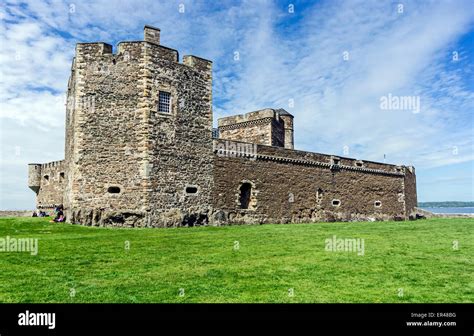
<svg viewBox="0 0 474 336">
<path fill-rule="evenodd" d="M 75 44 L 145 24 L 213 61 L 214 123 L 284 108 L 296 149 L 413 165 L 418 201 L 474 200 L 472 0 L 2 3 L 2 210 L 34 208 L 28 163 L 64 158 Z"/>
</svg>

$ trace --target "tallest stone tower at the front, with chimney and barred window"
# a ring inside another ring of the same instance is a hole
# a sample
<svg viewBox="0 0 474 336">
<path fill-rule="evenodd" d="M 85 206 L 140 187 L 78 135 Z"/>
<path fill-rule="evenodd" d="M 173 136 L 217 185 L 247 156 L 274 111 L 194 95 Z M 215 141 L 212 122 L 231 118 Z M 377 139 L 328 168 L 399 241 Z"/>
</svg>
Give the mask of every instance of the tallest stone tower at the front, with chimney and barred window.
<svg viewBox="0 0 474 336">
<path fill-rule="evenodd" d="M 68 84 L 64 193 L 70 222 L 205 223 L 211 207 L 211 62 L 144 41 L 79 43 Z"/>
</svg>

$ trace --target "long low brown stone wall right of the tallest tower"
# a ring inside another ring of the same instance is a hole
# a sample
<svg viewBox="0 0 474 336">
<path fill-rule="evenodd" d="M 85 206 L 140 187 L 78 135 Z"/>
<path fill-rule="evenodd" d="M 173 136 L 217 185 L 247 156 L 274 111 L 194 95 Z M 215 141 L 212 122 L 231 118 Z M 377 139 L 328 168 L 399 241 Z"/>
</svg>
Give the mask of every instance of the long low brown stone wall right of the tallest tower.
<svg viewBox="0 0 474 336">
<path fill-rule="evenodd" d="M 360 161 L 348 158 L 339 158 L 335 165 L 334 159 L 330 155 L 262 145 L 257 148 L 256 160 L 216 155 L 213 221 L 289 223 L 406 218 L 404 167 L 374 162 L 362 162 L 359 167 L 356 163 Z M 252 185 L 246 210 L 241 209 L 239 200 L 243 183 Z M 416 194 L 406 198 L 416 200 Z"/>
</svg>

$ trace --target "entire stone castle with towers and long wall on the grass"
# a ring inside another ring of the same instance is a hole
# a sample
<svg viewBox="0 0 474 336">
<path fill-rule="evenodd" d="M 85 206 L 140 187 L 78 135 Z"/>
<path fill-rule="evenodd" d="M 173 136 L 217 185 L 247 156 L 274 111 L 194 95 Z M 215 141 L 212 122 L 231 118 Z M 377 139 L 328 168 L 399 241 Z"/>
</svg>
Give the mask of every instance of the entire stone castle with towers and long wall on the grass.
<svg viewBox="0 0 474 336">
<path fill-rule="evenodd" d="M 294 150 L 293 116 L 263 109 L 212 128 L 212 62 L 144 41 L 78 43 L 63 161 L 29 165 L 38 209 L 70 223 L 173 227 L 404 220 L 413 167 Z"/>
</svg>

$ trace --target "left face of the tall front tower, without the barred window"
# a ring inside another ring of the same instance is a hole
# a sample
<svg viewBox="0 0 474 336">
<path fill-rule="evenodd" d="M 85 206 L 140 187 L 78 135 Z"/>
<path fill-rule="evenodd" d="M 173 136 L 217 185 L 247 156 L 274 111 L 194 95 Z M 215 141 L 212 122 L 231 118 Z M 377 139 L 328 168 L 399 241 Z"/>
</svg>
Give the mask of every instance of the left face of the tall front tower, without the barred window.
<svg viewBox="0 0 474 336">
<path fill-rule="evenodd" d="M 74 61 L 74 105 L 66 127 L 70 171 L 67 220 L 99 224 L 127 212 L 143 220 L 147 110 L 141 103 L 145 45 L 123 42 L 116 54 L 105 43 L 80 43 Z"/>
</svg>

